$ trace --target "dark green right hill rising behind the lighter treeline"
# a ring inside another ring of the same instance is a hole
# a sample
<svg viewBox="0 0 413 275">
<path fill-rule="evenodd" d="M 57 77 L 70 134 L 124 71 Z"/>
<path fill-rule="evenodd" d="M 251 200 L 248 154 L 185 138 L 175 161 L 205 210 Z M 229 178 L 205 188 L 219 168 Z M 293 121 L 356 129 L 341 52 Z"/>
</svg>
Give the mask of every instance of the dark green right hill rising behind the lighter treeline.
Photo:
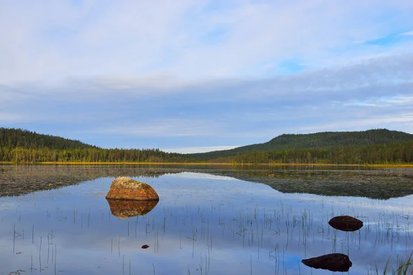
<svg viewBox="0 0 413 275">
<path fill-rule="evenodd" d="M 233 148 L 231 150 L 195 153 L 192 157 L 211 159 L 229 157 L 251 152 L 279 151 L 287 149 L 325 148 L 337 146 L 366 146 L 374 144 L 395 144 L 413 141 L 413 135 L 388 129 L 373 129 L 352 132 L 319 132 L 308 134 L 283 134 L 269 142 Z"/>
</svg>

